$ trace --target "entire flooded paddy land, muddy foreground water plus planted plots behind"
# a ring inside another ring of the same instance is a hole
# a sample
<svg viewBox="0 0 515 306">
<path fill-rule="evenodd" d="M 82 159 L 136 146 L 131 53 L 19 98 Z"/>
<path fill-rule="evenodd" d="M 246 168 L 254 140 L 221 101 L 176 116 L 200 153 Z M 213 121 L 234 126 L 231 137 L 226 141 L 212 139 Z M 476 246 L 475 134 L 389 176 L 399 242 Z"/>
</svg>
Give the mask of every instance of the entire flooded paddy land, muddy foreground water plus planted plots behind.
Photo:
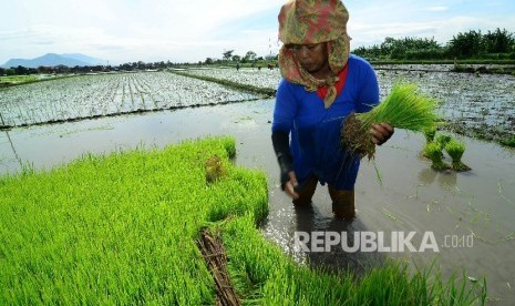
<svg viewBox="0 0 515 306">
<path fill-rule="evenodd" d="M 276 84 L 279 81 L 277 70 L 212 72 L 220 79 L 245 73 L 245 79 L 258 86 L 267 86 L 270 80 Z M 204 70 L 203 73 L 210 72 Z M 442 101 L 441 113 L 447 122 L 455 120 L 456 124 L 484 133 L 498 131 L 504 135 L 514 131 L 513 124 L 507 124 L 513 122 L 515 108 L 514 76 L 380 69 L 378 76 L 382 95 L 400 78 L 419 83 L 422 91 Z M 90 85 L 82 83 L 87 80 Z M 177 85 L 179 80 L 184 80 L 182 85 Z M 60 83 L 68 81 L 72 83 Z M 38 94 L 45 96 L 49 89 L 44 86 L 49 84 L 56 100 L 47 96 L 41 102 Z M 95 90 L 87 91 L 89 86 Z M 116 90 L 109 91 L 112 86 Z M 204 93 L 206 89 L 212 91 Z M 137 91 L 140 93 L 134 94 Z M 84 95 L 69 101 L 73 94 Z M 13 96 L 16 100 L 11 100 Z M 122 96 L 126 99 L 123 104 Z M 97 113 L 117 112 L 115 106 L 105 106 L 111 105 L 106 101 L 116 101 L 113 105 L 120 105 L 120 110 L 152 109 L 155 103 L 164 109 L 177 103 L 185 108 L 0 131 L 0 173 L 16 173 L 28 166 L 37 171 L 51 169 L 86 153 L 162 147 L 187 139 L 230 134 L 237 140 L 236 163 L 260 169 L 268 176 L 270 213 L 262 225 L 264 235 L 297 261 L 334 269 L 351 268 L 358 273 L 388 257 L 402 258 L 413 267 L 436 263 L 435 269 L 441 269 L 445 278 L 454 272 L 461 276 L 462 268 L 470 282 L 486 277 L 488 296 L 495 305 L 515 303 L 515 265 L 511 259 L 515 251 L 515 156 L 512 149 L 449 133 L 465 143 L 463 162 L 472 171 L 435 172 L 421 156 L 424 137 L 398 130 L 385 145 L 379 147 L 375 163 L 362 163 L 356 186 L 358 217 L 352 223 L 344 223 L 332 217 L 327 186 L 318 186 L 311 208 L 292 207 L 291 201 L 280 191 L 279 169 L 271 147 L 274 100 L 250 101 L 253 99 L 256 98 L 251 94 L 169 72 L 74 76 L 2 90 L 0 113 L 7 121 L 4 125 L 45 121 L 59 115 L 72 118 L 76 113 L 87 118 L 93 110 Z M 217 105 L 218 101 L 222 101 L 220 105 Z M 37 105 L 54 111 L 40 110 Z M 449 161 L 449 156 L 445 159 Z M 331 252 L 307 253 L 293 248 L 298 231 L 333 231 L 349 235 L 370 231 L 384 232 L 387 236 L 395 232 L 415 232 L 415 246 L 420 245 L 424 233 L 432 232 L 439 249 L 346 253 L 333 247 Z"/>
</svg>

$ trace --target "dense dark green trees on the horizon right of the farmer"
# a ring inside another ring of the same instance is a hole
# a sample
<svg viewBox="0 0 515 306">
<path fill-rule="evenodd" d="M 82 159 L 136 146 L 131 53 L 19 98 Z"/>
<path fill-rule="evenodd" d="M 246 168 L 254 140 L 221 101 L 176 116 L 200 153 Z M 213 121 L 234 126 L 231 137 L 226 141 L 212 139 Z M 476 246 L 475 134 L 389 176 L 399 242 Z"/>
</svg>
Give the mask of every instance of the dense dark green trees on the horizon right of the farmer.
<svg viewBox="0 0 515 306">
<path fill-rule="evenodd" d="M 515 60 L 515 34 L 496 29 L 482 33 L 460 32 L 440 44 L 434 38 L 385 38 L 381 44 L 360 47 L 352 51 L 369 60 Z"/>
</svg>

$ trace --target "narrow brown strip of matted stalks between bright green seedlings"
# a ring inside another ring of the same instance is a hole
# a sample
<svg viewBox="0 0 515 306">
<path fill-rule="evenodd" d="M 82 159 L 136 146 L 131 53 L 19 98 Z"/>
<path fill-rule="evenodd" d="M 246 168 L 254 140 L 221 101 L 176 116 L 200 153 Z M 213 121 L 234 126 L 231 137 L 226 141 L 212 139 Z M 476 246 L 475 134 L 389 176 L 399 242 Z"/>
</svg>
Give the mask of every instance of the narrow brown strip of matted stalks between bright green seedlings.
<svg viewBox="0 0 515 306">
<path fill-rule="evenodd" d="M 227 271 L 227 255 L 224 244 L 222 243 L 220 234 L 217 233 L 216 236 L 214 236 L 209 230 L 202 230 L 197 246 L 215 280 L 216 305 L 241 305 L 230 283 L 229 273 Z"/>
</svg>

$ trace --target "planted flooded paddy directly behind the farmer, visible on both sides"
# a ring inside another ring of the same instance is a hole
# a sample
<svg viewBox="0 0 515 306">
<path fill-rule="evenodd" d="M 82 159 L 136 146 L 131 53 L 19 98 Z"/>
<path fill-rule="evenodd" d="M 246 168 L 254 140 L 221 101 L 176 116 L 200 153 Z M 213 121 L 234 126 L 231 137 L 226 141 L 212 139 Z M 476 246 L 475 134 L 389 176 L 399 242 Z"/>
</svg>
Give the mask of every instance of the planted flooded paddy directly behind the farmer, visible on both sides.
<svg viewBox="0 0 515 306">
<path fill-rule="evenodd" d="M 487 68 L 501 69 L 502 65 Z M 439 99 L 440 116 L 452 130 L 494 141 L 515 140 L 515 76 L 451 72 L 449 64 L 378 65 L 381 98 L 399 81 L 413 82 L 422 92 Z M 202 69 L 192 74 L 238 81 L 264 88 L 277 86 L 278 70 Z M 515 141 L 514 141 L 515 142 Z"/>
</svg>

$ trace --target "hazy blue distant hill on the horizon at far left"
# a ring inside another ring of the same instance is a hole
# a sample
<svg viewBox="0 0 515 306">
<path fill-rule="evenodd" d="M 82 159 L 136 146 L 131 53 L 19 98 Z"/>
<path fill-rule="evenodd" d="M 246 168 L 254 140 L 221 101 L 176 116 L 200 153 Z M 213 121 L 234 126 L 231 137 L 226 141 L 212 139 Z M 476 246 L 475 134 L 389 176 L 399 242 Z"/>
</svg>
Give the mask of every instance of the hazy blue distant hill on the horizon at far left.
<svg viewBox="0 0 515 306">
<path fill-rule="evenodd" d="M 27 59 L 10 59 L 2 68 L 11 68 L 11 67 L 25 67 L 25 68 L 38 68 L 40 65 L 44 67 L 55 67 L 55 65 L 68 65 L 68 67 L 75 67 L 75 65 L 97 65 L 97 64 L 105 64 L 104 60 L 91 58 L 89 55 L 84 55 L 81 53 L 65 53 L 65 54 L 55 54 L 55 53 L 47 53 L 42 57 L 27 60 Z"/>
</svg>

